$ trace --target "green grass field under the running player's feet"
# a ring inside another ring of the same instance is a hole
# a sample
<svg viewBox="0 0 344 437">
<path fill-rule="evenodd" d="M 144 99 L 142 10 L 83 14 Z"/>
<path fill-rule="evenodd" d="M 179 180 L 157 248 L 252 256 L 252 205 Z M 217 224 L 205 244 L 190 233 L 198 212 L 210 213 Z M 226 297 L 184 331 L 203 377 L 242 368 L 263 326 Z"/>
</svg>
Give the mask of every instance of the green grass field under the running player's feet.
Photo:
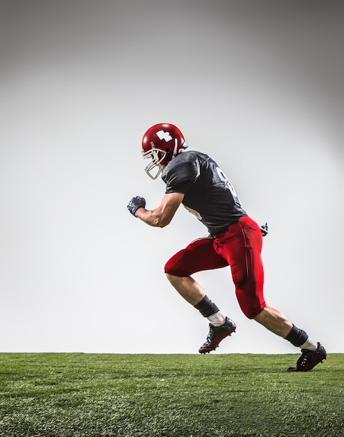
<svg viewBox="0 0 344 437">
<path fill-rule="evenodd" d="M 4 437 L 343 436 L 344 355 L 0 354 Z"/>
</svg>

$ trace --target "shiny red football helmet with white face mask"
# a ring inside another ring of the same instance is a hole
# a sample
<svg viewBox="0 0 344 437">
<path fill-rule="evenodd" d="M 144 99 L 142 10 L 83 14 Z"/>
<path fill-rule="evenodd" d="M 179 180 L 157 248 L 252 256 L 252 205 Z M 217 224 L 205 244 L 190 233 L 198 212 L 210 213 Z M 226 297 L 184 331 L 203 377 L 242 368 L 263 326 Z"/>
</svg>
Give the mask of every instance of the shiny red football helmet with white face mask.
<svg viewBox="0 0 344 437">
<path fill-rule="evenodd" d="M 186 147 L 187 142 L 177 126 L 169 123 L 155 124 L 143 135 L 143 158 L 151 160 L 145 167 L 145 172 L 152 179 L 157 179 L 164 166 L 178 154 L 180 149 Z M 155 175 L 152 175 L 151 171 L 156 167 L 158 170 Z"/>
</svg>

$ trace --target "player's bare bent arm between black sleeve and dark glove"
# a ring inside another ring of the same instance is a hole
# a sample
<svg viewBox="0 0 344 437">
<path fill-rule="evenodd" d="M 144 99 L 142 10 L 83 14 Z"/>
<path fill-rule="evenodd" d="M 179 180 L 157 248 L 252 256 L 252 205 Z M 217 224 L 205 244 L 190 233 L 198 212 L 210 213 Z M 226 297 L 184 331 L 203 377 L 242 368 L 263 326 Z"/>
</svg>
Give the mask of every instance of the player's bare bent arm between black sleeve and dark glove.
<svg viewBox="0 0 344 437">
<path fill-rule="evenodd" d="M 134 216 L 140 218 L 140 220 L 144 221 L 150 226 L 164 228 L 164 226 L 171 222 L 183 198 L 184 194 L 182 193 L 165 194 L 159 207 L 151 210 L 145 209 L 145 205 L 138 207 L 134 212 Z"/>
</svg>

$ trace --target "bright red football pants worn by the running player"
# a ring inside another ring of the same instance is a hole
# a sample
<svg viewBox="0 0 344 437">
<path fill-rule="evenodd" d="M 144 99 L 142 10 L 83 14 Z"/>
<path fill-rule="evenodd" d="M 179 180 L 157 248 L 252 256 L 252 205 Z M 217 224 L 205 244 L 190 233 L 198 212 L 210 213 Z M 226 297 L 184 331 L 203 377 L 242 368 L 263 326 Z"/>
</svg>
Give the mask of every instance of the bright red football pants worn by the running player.
<svg viewBox="0 0 344 437">
<path fill-rule="evenodd" d="M 218 237 L 197 239 L 175 253 L 166 262 L 165 273 L 184 277 L 229 265 L 241 310 L 255 318 L 266 306 L 261 245 L 259 226 L 245 216 Z"/>
</svg>

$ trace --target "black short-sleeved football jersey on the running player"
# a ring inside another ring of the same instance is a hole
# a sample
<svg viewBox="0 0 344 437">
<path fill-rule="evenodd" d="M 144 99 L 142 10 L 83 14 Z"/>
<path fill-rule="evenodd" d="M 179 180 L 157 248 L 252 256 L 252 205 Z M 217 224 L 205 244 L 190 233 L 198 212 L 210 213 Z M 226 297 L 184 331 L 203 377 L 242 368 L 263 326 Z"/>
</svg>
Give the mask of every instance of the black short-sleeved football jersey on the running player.
<svg viewBox="0 0 344 437">
<path fill-rule="evenodd" d="M 231 223 L 247 216 L 221 168 L 208 155 L 185 151 L 173 158 L 162 172 L 166 193 L 183 193 L 182 204 L 219 235 Z"/>
</svg>

